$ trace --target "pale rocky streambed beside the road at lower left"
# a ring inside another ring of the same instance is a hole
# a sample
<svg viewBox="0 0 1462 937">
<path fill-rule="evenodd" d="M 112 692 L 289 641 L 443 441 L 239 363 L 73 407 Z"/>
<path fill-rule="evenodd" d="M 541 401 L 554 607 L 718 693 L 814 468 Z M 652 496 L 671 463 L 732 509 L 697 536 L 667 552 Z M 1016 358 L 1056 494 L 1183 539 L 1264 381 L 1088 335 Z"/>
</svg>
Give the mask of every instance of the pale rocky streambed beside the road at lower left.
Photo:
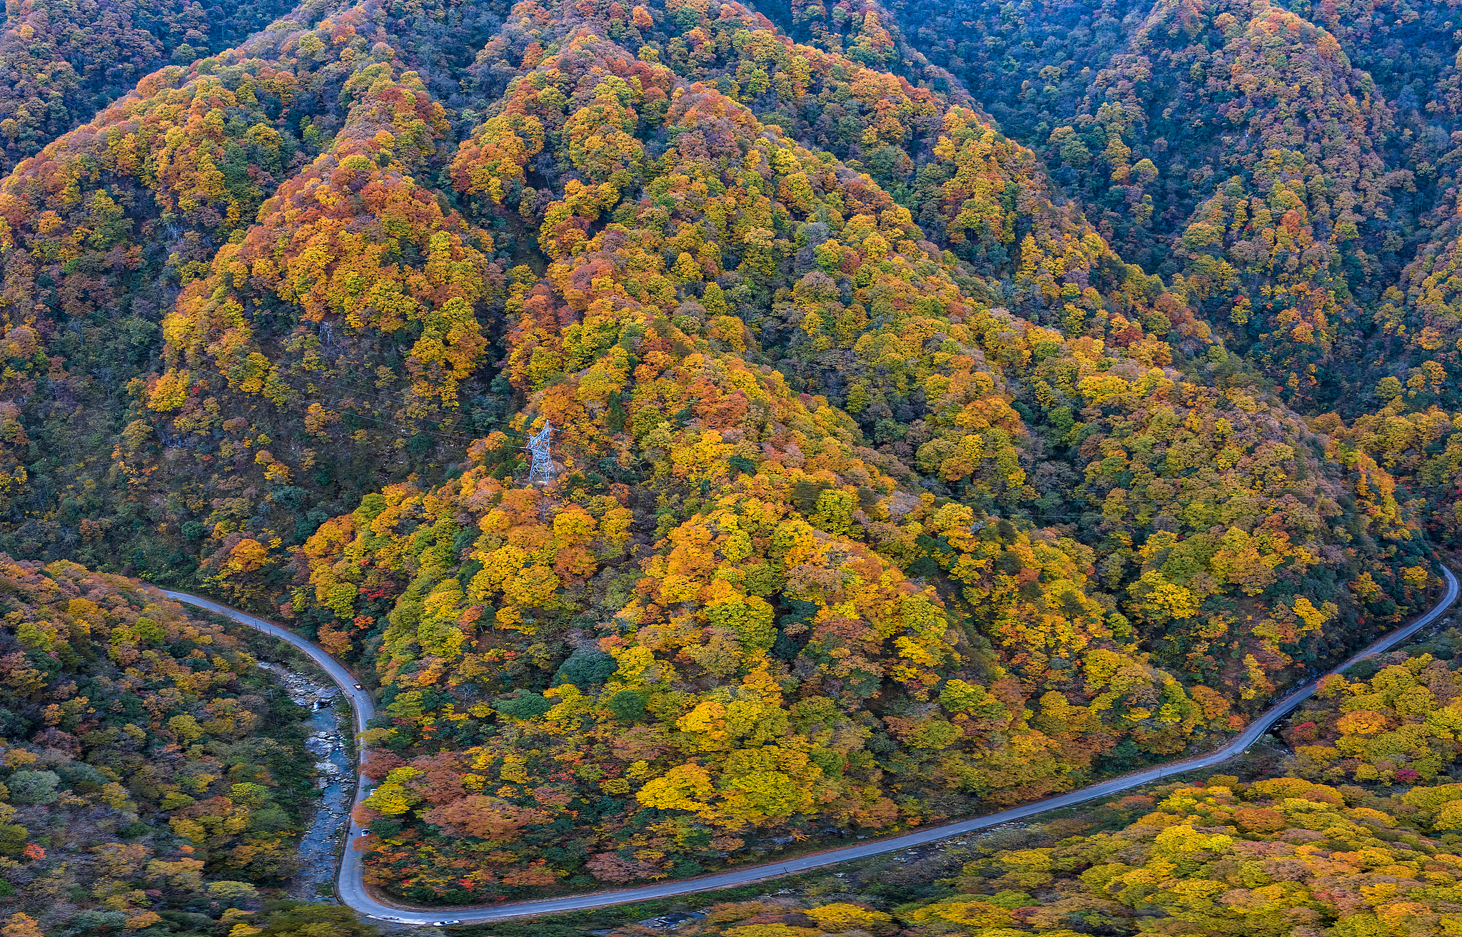
<svg viewBox="0 0 1462 937">
<path fill-rule="evenodd" d="M 308 819 L 308 829 L 300 838 L 300 873 L 289 883 L 289 893 L 303 899 L 327 898 L 335 879 L 335 857 L 349 819 L 354 775 L 344 744 L 349 716 L 336 703 L 339 687 L 317 681 L 282 664 L 260 662 L 278 680 L 289 699 L 313 710 L 310 735 L 304 747 L 314 757 L 316 786 L 320 805 Z"/>
</svg>

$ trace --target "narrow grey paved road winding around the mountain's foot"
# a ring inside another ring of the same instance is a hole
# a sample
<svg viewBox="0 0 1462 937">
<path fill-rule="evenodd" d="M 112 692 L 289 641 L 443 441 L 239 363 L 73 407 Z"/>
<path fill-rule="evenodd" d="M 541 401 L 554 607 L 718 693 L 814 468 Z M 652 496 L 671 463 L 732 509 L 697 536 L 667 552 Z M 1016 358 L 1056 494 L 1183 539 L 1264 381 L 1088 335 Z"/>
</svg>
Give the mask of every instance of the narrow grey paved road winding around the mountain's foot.
<svg viewBox="0 0 1462 937">
<path fill-rule="evenodd" d="M 1452 574 L 1452 570 L 1443 567 L 1442 576 L 1446 580 L 1446 591 L 1442 599 L 1411 624 L 1404 629 L 1398 629 L 1385 637 L 1379 637 L 1364 650 L 1351 656 L 1345 664 L 1330 671 L 1338 674 L 1345 668 L 1354 665 L 1361 658 L 1373 653 L 1379 653 L 1392 648 L 1393 645 L 1411 637 L 1421 629 L 1427 627 L 1433 621 L 1442 617 L 1443 612 L 1452 605 L 1458 598 L 1458 577 Z M 273 634 L 282 640 L 289 642 L 300 650 L 306 652 L 314 661 L 325 668 L 335 683 L 341 686 L 345 694 L 349 697 L 355 708 L 355 725 L 358 731 L 366 731 L 366 721 L 376 715 L 376 708 L 371 705 L 370 694 L 364 690 L 355 688 L 355 678 L 351 675 L 345 667 L 332 658 L 329 653 L 322 650 L 319 646 L 304 640 L 298 634 L 282 629 L 276 624 L 270 624 L 263 618 L 250 615 L 247 612 L 230 608 L 228 605 L 221 605 L 212 599 L 199 598 L 196 595 L 187 595 L 186 592 L 173 592 L 168 589 L 158 589 L 162 595 L 178 602 L 187 602 L 189 605 L 197 605 L 199 608 L 206 608 L 215 611 L 221 615 L 232 618 L 240 624 L 247 624 L 249 627 L 259 629 L 266 634 Z M 1326 674 L 1329 675 L 1329 674 Z M 934 826 L 928 829 L 918 830 L 915 833 L 906 833 L 904 836 L 895 836 L 892 839 L 877 839 L 858 846 L 848 846 L 845 849 L 832 849 L 827 852 L 819 852 L 816 855 L 807 855 L 803 858 L 787 860 L 784 862 L 770 862 L 763 865 L 751 865 L 746 868 L 735 868 L 731 871 L 724 871 L 715 876 L 702 876 L 699 879 L 681 879 L 677 881 L 664 881 L 659 884 L 648 884 L 639 889 L 618 889 L 614 892 L 599 892 L 595 895 L 572 895 L 567 898 L 550 898 L 544 900 L 529 900 L 529 902 L 512 902 L 503 905 L 494 905 L 490 908 L 436 908 L 433 911 L 405 911 L 401 908 L 392 908 L 390 905 L 383 905 L 376 900 L 367 890 L 361 880 L 361 854 L 354 849 L 345 849 L 345 857 L 341 861 L 341 876 L 339 876 L 339 895 L 341 899 L 367 917 L 385 918 L 389 921 L 399 921 L 402 924 L 430 924 L 433 921 L 455 919 L 463 924 L 477 924 L 481 921 L 499 921 L 503 918 L 516 918 L 523 915 L 535 914 L 553 914 L 560 911 L 582 911 L 586 908 L 602 908 L 605 905 L 623 905 L 629 902 L 651 900 L 656 898 L 671 898 L 675 895 L 687 895 L 692 892 L 705 892 L 709 889 L 724 889 L 738 884 L 747 884 L 751 881 L 759 881 L 763 879 L 772 879 L 776 876 L 792 874 L 800 871 L 807 871 L 810 868 L 819 868 L 822 865 L 832 865 L 835 862 L 846 862 L 849 860 L 861 860 L 870 855 L 879 855 L 883 852 L 898 852 L 899 849 L 908 849 L 912 846 L 920 846 L 939 839 L 947 839 L 950 836 L 959 836 L 969 833 L 972 830 L 985 829 L 988 826 L 997 826 L 1000 823 L 1009 823 L 1012 820 L 1022 820 L 1025 817 L 1035 816 L 1047 810 L 1056 810 L 1058 807 L 1070 807 L 1073 804 L 1080 804 L 1083 801 L 1095 800 L 1098 797 L 1107 797 L 1108 794 L 1116 794 L 1117 791 L 1126 791 L 1129 788 L 1136 788 L 1143 784 L 1151 784 L 1161 778 L 1168 778 L 1186 770 L 1193 770 L 1194 767 L 1209 767 L 1225 762 L 1235 754 L 1243 753 L 1249 746 L 1269 731 L 1275 722 L 1278 722 L 1285 713 L 1294 709 L 1301 700 L 1310 697 L 1319 678 L 1311 680 L 1294 693 L 1289 693 L 1282 700 L 1265 710 L 1263 715 L 1256 718 L 1249 728 L 1238 734 L 1237 738 L 1230 741 L 1222 748 L 1212 751 L 1209 754 L 1200 754 L 1181 762 L 1171 762 L 1158 767 L 1149 767 L 1146 770 L 1126 775 L 1123 778 L 1114 778 L 1111 781 L 1104 781 L 1101 784 L 1094 784 L 1088 788 L 1079 791 L 1072 791 L 1070 794 L 1061 794 L 1060 797 L 1050 797 L 1044 801 L 1035 801 L 1031 804 L 1023 804 L 1020 807 L 1012 807 L 1010 810 L 1001 810 L 1000 813 L 993 813 L 985 817 L 975 817 L 972 820 L 961 820 L 959 823 L 946 823 L 944 826 Z M 361 750 L 364 756 L 364 750 Z M 370 781 L 361 778 L 361 784 L 357 786 L 355 800 L 360 803 L 370 792 L 367 785 Z M 351 839 L 354 841 L 364 830 L 351 820 Z"/>
</svg>

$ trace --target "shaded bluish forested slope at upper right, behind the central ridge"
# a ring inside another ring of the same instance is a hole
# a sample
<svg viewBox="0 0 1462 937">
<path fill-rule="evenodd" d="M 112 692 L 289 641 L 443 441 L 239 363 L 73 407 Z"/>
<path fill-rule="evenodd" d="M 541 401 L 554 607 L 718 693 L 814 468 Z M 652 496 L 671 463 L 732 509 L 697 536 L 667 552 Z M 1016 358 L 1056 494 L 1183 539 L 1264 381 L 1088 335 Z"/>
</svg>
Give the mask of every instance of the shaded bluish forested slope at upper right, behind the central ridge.
<svg viewBox="0 0 1462 937">
<path fill-rule="evenodd" d="M 896 6 L 912 44 L 1288 399 L 1379 406 L 1420 374 L 1456 403 L 1446 276 L 1423 284 L 1455 237 L 1450 7 L 921 6 Z"/>
</svg>

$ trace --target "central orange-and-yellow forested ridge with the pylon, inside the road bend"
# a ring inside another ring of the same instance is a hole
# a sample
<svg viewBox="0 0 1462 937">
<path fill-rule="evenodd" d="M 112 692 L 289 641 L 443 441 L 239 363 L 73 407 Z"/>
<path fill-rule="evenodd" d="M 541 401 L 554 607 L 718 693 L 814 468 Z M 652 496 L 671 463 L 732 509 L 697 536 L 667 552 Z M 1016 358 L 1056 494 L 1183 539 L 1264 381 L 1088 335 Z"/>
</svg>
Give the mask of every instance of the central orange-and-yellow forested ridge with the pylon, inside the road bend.
<svg viewBox="0 0 1462 937">
<path fill-rule="evenodd" d="M 1164 336 L 1205 348 L 1205 329 L 1034 183 L 1025 216 L 1048 221 L 1026 228 L 1019 308 L 1061 303 L 1058 327 L 991 308 L 876 181 L 656 58 L 585 29 L 525 50 L 449 175 L 481 225 L 538 225 L 545 272 L 503 281 L 526 406 L 459 478 L 364 498 L 285 567 L 281 611 L 383 681 L 373 881 L 466 900 L 689 874 L 757 833 L 1064 789 L 1240 728 L 1333 650 L 1325 623 L 1418 601 L 1389 475 L 1323 466 L 1241 376 L 1219 393 L 1173 370 Z M 947 191 L 1031 165 L 974 111 L 940 129 Z M 1022 205 L 991 205 L 999 243 Z M 1104 262 L 1110 298 L 1053 276 Z M 510 477 L 510 433 L 542 421 L 551 491 Z M 1089 523 L 999 516 L 1060 513 L 1041 498 L 1066 477 L 1026 472 L 1042 444 L 1079 460 Z M 269 548 L 212 536 L 216 582 L 256 595 Z M 1145 646 L 1227 691 L 1190 694 Z"/>
</svg>

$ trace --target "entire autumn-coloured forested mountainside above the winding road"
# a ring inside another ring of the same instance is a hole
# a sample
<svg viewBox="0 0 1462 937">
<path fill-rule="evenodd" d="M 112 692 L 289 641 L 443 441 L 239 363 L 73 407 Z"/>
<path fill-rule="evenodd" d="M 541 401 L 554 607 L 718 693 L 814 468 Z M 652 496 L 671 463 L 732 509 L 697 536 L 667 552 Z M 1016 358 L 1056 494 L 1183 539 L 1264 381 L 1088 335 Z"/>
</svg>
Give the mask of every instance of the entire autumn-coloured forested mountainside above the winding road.
<svg viewBox="0 0 1462 937">
<path fill-rule="evenodd" d="M 412 902 L 1215 747 L 1458 547 L 1423 7 L 16 6 L 0 548 L 363 674 Z"/>
</svg>

